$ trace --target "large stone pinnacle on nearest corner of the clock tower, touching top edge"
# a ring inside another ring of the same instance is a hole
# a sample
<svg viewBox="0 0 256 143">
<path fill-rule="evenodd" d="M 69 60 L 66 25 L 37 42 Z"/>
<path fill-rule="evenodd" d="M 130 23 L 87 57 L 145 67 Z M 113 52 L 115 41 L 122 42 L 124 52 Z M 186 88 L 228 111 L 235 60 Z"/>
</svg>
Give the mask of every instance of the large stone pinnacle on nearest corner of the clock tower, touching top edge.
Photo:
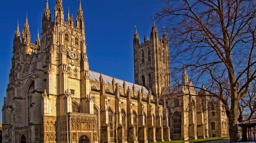
<svg viewBox="0 0 256 143">
<path fill-rule="evenodd" d="M 55 23 L 63 23 L 64 21 L 64 11 L 62 7 L 62 0 L 57 0 L 55 5 Z"/>
</svg>

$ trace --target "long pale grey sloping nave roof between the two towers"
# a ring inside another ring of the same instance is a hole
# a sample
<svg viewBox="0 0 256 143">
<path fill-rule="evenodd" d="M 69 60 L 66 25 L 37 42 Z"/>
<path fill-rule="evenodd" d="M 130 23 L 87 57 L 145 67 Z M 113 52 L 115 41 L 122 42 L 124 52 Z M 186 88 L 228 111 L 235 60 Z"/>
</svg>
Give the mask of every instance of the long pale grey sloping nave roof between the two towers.
<svg viewBox="0 0 256 143">
<path fill-rule="evenodd" d="M 100 81 L 100 73 L 90 70 L 89 74 L 90 74 L 91 80 Z M 102 74 L 102 78 L 103 78 L 104 83 L 112 84 L 113 77 Z M 115 79 L 115 83 L 118 83 L 119 87 L 123 88 L 123 80 L 118 79 L 118 78 L 114 78 L 114 79 Z M 126 83 L 126 89 L 128 89 L 128 87 L 130 89 L 133 89 L 133 83 L 129 83 L 127 81 L 125 81 L 125 83 Z M 141 85 L 134 84 L 134 86 L 135 86 L 135 91 L 137 91 L 137 92 L 141 91 L 141 88 L 142 88 Z M 143 89 L 144 89 L 144 94 L 148 94 L 149 90 L 147 90 L 147 88 L 145 88 L 145 87 Z"/>
</svg>

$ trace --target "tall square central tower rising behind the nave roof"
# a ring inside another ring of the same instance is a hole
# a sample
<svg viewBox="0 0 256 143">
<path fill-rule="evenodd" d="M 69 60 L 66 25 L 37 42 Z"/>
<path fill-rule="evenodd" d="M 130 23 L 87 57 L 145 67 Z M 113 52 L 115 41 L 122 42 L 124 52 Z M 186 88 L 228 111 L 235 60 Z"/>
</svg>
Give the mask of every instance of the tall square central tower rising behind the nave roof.
<svg viewBox="0 0 256 143">
<path fill-rule="evenodd" d="M 133 37 L 134 78 L 135 84 L 151 89 L 154 95 L 161 94 L 161 88 L 170 86 L 170 64 L 168 38 L 164 30 L 163 38 L 158 38 L 158 32 L 153 22 L 150 41 L 144 36 L 140 38 L 135 27 Z"/>
</svg>

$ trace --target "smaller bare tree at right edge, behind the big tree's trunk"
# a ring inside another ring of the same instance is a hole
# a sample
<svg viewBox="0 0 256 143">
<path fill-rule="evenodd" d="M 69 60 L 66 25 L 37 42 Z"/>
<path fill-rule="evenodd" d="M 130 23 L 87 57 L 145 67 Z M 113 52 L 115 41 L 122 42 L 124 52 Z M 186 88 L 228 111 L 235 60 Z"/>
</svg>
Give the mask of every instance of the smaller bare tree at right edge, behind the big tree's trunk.
<svg viewBox="0 0 256 143">
<path fill-rule="evenodd" d="M 256 81 L 250 85 L 247 94 L 239 101 L 239 118 L 238 122 L 252 120 L 256 115 Z M 248 141 L 247 127 L 242 128 L 241 141 Z"/>
</svg>

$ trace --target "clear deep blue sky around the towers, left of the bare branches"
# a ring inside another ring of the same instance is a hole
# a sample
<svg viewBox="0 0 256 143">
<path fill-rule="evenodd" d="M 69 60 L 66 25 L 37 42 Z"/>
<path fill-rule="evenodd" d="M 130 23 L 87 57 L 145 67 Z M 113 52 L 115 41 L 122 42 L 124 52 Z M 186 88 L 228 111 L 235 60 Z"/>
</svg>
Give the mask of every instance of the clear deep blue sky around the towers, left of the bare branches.
<svg viewBox="0 0 256 143">
<path fill-rule="evenodd" d="M 135 25 L 143 41 L 150 35 L 154 12 L 161 9 L 160 0 L 81 0 L 85 20 L 85 39 L 90 70 L 102 72 L 129 82 L 134 82 L 133 34 Z M 49 0 L 54 16 L 56 0 Z M 42 27 L 46 0 L 0 0 L 0 107 L 11 68 L 13 37 L 19 20 L 19 30 L 24 28 L 26 12 L 30 25 L 31 42 L 36 42 L 37 29 Z M 64 16 L 67 11 L 76 18 L 79 0 L 63 0 Z M 74 19 L 75 20 L 75 19 Z M 157 23 L 159 32 L 163 23 Z M 162 34 L 161 34 L 162 35 Z M 2 113 L 0 114 L 2 122 Z"/>
</svg>

